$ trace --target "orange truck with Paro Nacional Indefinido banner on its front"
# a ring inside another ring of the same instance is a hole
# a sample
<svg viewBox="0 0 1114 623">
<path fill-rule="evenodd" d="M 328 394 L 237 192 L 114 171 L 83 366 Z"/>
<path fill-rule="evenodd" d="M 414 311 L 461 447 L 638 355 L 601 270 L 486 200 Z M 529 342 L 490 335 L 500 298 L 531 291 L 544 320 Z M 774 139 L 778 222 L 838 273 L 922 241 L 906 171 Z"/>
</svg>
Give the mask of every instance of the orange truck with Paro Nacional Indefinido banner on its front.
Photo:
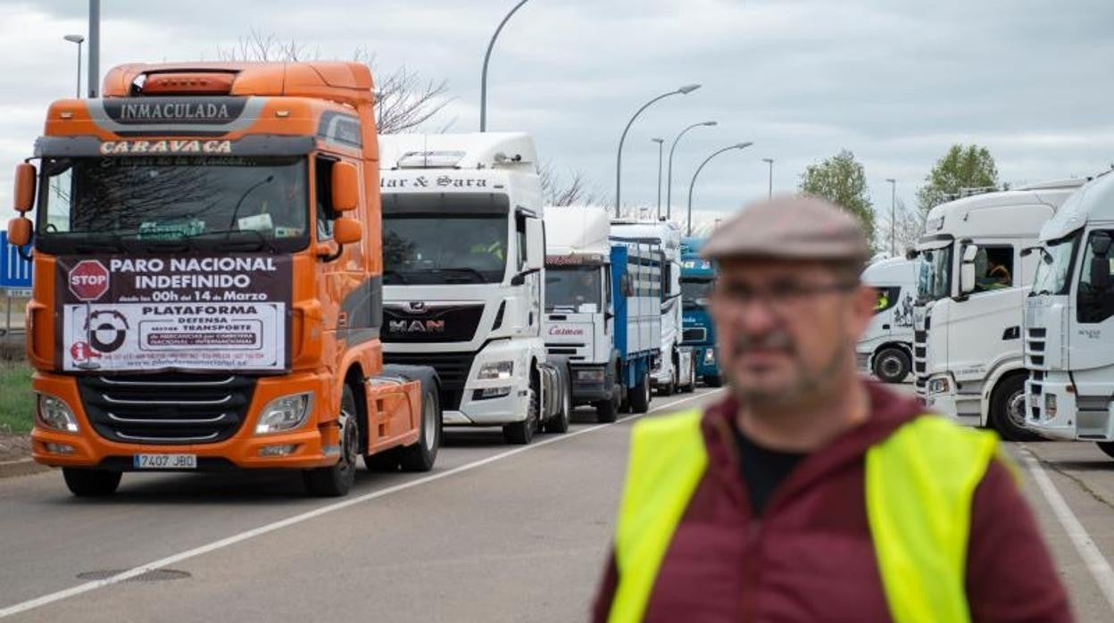
<svg viewBox="0 0 1114 623">
<path fill-rule="evenodd" d="M 53 103 L 16 174 L 35 460 L 78 496 L 124 471 L 292 469 L 341 496 L 361 455 L 431 469 L 437 373 L 382 362 L 368 68 L 125 65 L 102 94 Z"/>
</svg>

